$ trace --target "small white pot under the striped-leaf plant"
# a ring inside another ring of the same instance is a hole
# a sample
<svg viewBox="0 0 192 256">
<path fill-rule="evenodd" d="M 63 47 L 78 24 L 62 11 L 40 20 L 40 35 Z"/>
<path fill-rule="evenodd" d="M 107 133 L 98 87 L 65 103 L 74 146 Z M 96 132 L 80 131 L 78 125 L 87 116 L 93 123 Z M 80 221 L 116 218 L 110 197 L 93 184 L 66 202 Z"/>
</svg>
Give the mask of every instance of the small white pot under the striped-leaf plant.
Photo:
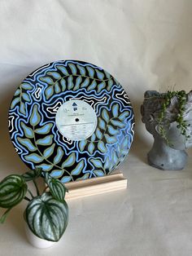
<svg viewBox="0 0 192 256">
<path fill-rule="evenodd" d="M 29 229 L 27 223 L 24 223 L 24 228 L 25 228 L 26 236 L 28 238 L 29 243 L 34 247 L 41 248 L 41 249 L 49 248 L 50 246 L 53 246 L 57 243 L 53 241 L 46 241 L 44 239 L 41 239 L 38 236 L 35 236 L 33 232 Z"/>
</svg>

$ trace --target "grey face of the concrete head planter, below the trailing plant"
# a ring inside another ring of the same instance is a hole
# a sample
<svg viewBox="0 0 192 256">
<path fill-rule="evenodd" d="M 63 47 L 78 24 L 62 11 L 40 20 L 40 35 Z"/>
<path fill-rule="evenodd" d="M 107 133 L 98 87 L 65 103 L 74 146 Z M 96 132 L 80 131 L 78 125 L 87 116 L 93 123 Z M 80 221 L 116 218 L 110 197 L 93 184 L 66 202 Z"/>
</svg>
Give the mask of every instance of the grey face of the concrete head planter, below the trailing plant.
<svg viewBox="0 0 192 256">
<path fill-rule="evenodd" d="M 185 135 L 181 135 L 181 130 L 177 128 L 177 122 L 172 122 L 167 134 L 171 148 L 185 150 L 186 148 L 192 147 L 192 112 L 184 120 L 186 121 L 186 125 L 190 125 L 187 126 L 186 130 L 186 136 L 190 135 L 190 138 L 186 139 Z"/>
</svg>

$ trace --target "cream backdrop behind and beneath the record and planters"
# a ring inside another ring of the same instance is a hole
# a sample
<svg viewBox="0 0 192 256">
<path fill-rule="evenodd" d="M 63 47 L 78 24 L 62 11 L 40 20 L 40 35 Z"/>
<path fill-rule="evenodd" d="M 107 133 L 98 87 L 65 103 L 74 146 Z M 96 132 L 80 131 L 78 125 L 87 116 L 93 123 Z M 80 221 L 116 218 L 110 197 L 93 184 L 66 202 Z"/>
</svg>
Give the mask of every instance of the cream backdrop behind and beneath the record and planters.
<svg viewBox="0 0 192 256">
<path fill-rule="evenodd" d="M 191 255 L 191 162 L 182 172 L 146 165 L 152 139 L 139 108 L 145 90 L 192 89 L 192 2 L 1 0 L 0 44 L 1 179 L 25 170 L 9 140 L 7 111 L 18 84 L 43 64 L 74 59 L 105 68 L 124 86 L 136 117 L 135 143 L 122 166 L 128 191 L 70 203 L 63 244 L 39 255 Z M 3 256 L 30 246 L 21 236 L 20 208 L 0 227 Z M 30 247 L 28 255 L 34 252 Z"/>
</svg>

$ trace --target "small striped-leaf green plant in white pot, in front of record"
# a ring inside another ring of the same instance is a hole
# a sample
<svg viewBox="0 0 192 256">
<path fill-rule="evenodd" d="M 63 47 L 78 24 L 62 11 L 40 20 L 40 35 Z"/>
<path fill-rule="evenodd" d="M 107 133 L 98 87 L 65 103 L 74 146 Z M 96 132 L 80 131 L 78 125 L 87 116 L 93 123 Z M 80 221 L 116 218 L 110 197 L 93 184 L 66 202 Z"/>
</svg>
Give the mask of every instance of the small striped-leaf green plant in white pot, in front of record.
<svg viewBox="0 0 192 256">
<path fill-rule="evenodd" d="M 45 180 L 46 188 L 40 192 L 37 178 Z M 33 181 L 37 195 L 28 188 Z M 49 189 L 49 191 L 47 191 Z M 58 179 L 37 168 L 24 174 L 11 174 L 0 183 L 0 207 L 7 209 L 0 222 L 4 223 L 10 210 L 22 200 L 28 201 L 24 220 L 28 239 L 34 246 L 45 248 L 59 241 L 68 226 L 68 205 L 64 200 L 67 189 Z M 30 234 L 31 232 L 31 234 Z"/>
</svg>

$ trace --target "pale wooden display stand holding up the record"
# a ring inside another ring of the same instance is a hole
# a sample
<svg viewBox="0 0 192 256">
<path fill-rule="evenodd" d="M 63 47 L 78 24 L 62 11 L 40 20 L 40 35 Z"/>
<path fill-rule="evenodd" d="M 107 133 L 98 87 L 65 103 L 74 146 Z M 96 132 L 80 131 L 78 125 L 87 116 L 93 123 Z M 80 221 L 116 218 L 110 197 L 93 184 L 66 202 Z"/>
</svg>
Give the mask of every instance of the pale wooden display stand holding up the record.
<svg viewBox="0 0 192 256">
<path fill-rule="evenodd" d="M 127 179 L 124 178 L 120 171 L 116 171 L 113 174 L 99 178 L 65 183 L 65 186 L 68 188 L 68 193 L 65 196 L 65 199 L 68 201 L 125 189 L 127 188 Z"/>
</svg>

